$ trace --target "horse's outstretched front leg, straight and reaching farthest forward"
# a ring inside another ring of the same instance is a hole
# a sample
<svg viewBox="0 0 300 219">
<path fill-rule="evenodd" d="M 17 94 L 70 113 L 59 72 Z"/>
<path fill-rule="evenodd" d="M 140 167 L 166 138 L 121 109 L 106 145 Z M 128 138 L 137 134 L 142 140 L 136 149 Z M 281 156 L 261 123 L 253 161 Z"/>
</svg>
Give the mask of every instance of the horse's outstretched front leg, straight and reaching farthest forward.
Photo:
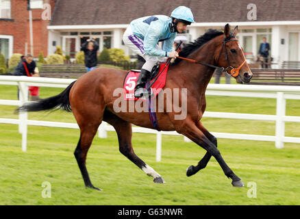
<svg viewBox="0 0 300 219">
<path fill-rule="evenodd" d="M 192 120 L 186 120 L 184 124 L 177 128 L 176 131 L 190 138 L 190 140 L 192 140 L 193 142 L 201 146 L 203 149 L 208 151 L 210 155 L 214 156 L 218 164 L 223 169 L 225 175 L 228 178 L 232 179 L 232 185 L 236 187 L 244 186 L 242 180 L 234 174 L 234 172 L 232 171 L 232 169 L 229 168 L 229 166 L 227 166 L 223 157 L 221 156 L 220 151 L 218 151 L 216 146 L 205 136 L 203 131 L 201 131 L 199 127 L 197 127 L 197 125 L 195 125 L 195 123 L 192 122 Z"/>
</svg>

